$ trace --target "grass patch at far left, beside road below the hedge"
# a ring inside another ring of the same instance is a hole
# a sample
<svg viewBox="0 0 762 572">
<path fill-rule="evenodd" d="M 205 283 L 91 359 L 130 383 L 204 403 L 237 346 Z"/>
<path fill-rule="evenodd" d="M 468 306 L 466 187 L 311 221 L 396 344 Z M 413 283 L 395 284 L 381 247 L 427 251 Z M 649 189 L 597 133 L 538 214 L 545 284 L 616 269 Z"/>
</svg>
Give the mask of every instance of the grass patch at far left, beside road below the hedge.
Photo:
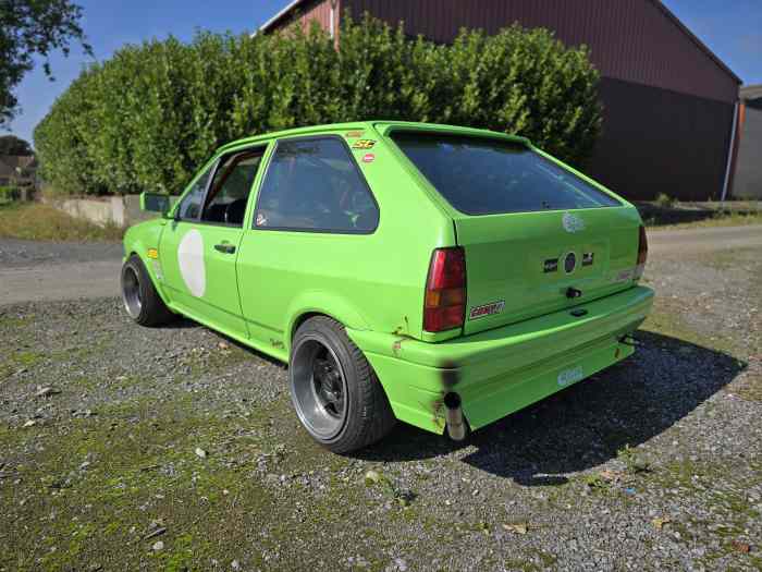
<svg viewBox="0 0 762 572">
<path fill-rule="evenodd" d="M 40 203 L 0 205 L 0 238 L 30 241 L 119 241 L 124 230 L 99 227 Z"/>
</svg>

